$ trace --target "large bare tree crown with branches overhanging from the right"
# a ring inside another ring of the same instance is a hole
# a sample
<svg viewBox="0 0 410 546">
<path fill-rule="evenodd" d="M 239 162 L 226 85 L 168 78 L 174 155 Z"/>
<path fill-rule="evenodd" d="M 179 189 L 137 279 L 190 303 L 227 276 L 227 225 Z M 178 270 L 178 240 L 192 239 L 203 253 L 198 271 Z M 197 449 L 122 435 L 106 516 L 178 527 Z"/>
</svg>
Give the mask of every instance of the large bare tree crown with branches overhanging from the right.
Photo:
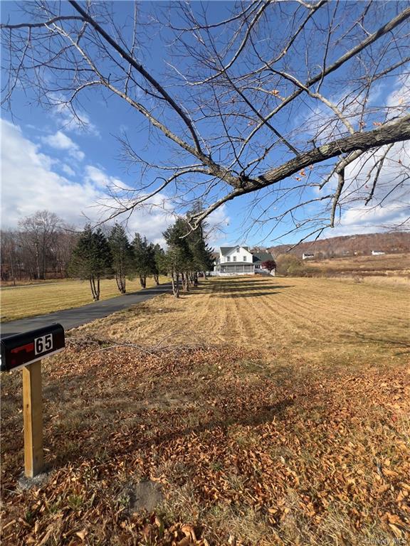
<svg viewBox="0 0 410 546">
<path fill-rule="evenodd" d="M 139 179 L 132 191 L 110 188 L 110 218 L 167 193 L 181 209 L 201 198 L 194 228 L 252 193 L 253 222 L 308 237 L 335 226 L 352 202 L 401 200 L 409 3 L 257 0 L 223 15 L 218 6 L 127 4 L 125 18 L 115 2 L 23 3 L 18 21 L 1 24 L 4 104 L 23 87 L 79 122 L 86 93 L 130 105 L 147 142 L 120 137 Z M 143 45 L 159 39 L 169 43 L 162 73 Z M 149 146 L 166 156 L 152 161 Z"/>
</svg>

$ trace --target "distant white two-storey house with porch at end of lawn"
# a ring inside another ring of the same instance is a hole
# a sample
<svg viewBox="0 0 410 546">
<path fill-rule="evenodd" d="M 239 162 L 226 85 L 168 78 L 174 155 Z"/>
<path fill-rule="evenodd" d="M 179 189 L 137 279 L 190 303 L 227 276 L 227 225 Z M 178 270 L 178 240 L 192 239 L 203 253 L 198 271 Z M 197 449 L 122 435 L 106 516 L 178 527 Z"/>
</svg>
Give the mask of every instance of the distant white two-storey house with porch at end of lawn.
<svg viewBox="0 0 410 546">
<path fill-rule="evenodd" d="M 249 247 L 220 247 L 219 256 L 215 260 L 214 275 L 249 275 L 269 274 L 268 269 L 262 267 L 263 262 L 273 259 L 268 252 L 251 252 Z M 270 274 L 275 275 L 275 270 Z"/>
</svg>

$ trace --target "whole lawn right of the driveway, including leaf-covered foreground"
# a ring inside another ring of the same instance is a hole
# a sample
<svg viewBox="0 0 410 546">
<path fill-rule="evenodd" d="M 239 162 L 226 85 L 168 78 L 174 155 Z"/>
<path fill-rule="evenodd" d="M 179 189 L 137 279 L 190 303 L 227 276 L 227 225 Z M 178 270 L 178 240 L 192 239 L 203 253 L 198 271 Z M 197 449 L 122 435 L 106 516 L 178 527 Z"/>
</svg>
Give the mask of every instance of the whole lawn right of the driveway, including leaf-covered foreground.
<svg viewBox="0 0 410 546">
<path fill-rule="evenodd" d="M 3 378 L 2 544 L 408 544 L 409 297 L 209 279 L 71 331 L 43 363 L 51 474 L 28 491 Z"/>
</svg>

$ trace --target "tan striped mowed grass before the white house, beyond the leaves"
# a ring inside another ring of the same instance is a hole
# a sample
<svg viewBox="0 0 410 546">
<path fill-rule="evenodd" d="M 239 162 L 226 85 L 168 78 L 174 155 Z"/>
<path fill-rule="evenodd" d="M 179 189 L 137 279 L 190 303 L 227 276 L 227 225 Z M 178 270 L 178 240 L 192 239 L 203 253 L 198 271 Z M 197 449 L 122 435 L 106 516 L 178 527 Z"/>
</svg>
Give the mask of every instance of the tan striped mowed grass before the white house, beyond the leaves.
<svg viewBox="0 0 410 546">
<path fill-rule="evenodd" d="M 180 299 L 160 296 L 79 331 L 148 345 L 228 343 L 261 350 L 276 363 L 295 355 L 325 365 L 328 354 L 332 366 L 390 358 L 391 349 L 409 342 L 409 318 L 407 287 L 238 277 L 210 279 Z"/>
</svg>

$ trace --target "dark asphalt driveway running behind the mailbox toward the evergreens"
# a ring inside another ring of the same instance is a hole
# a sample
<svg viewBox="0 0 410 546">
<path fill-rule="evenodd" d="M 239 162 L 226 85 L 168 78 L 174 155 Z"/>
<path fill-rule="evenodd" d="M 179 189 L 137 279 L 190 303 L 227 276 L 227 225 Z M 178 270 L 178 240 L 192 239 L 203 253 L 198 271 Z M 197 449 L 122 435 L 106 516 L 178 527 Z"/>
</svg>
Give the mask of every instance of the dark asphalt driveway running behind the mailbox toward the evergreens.
<svg viewBox="0 0 410 546">
<path fill-rule="evenodd" d="M 23 333 L 35 328 L 49 326 L 53 322 L 58 322 L 65 330 L 76 328 L 82 324 L 102 319 L 102 317 L 127 309 L 135 304 L 140 304 L 142 301 L 151 299 L 159 294 L 167 294 L 171 289 L 170 283 L 160 284 L 159 287 L 147 288 L 123 296 L 117 296 L 104 301 L 94 301 L 92 304 L 75 307 L 74 309 L 64 309 L 63 311 L 55 311 L 47 315 L 31 316 L 28 319 L 19 321 L 11 321 L 0 324 L 0 336 L 5 338 L 12 336 L 14 333 Z"/>
</svg>

